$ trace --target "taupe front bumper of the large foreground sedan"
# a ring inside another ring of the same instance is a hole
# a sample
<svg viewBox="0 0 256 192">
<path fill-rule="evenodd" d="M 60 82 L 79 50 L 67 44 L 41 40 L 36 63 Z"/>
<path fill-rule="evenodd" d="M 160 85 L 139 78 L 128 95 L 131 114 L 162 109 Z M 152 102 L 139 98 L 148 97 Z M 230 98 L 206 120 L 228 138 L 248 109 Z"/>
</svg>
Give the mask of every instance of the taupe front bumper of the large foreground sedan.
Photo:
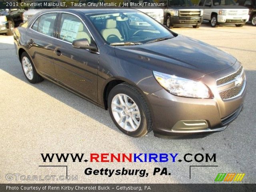
<svg viewBox="0 0 256 192">
<path fill-rule="evenodd" d="M 234 66 L 236 70 L 237 67 Z M 223 76 L 223 71 L 214 75 Z M 214 75 L 204 76 L 202 81 L 212 82 L 217 79 Z M 154 135 L 160 138 L 196 138 L 225 130 L 242 111 L 246 82 L 241 94 L 230 100 L 222 100 L 218 88 L 210 88 L 213 99 L 174 96 L 164 89 L 148 94 Z"/>
</svg>

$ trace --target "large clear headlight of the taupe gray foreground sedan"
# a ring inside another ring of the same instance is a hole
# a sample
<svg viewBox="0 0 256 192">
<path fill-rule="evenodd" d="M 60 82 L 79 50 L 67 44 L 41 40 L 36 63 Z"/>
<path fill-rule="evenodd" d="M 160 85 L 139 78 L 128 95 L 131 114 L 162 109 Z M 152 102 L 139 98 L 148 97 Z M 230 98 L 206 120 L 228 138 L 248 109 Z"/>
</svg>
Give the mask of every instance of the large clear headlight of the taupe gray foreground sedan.
<svg viewBox="0 0 256 192">
<path fill-rule="evenodd" d="M 210 89 L 200 81 L 153 71 L 158 83 L 171 94 L 192 98 L 213 98 Z"/>
</svg>

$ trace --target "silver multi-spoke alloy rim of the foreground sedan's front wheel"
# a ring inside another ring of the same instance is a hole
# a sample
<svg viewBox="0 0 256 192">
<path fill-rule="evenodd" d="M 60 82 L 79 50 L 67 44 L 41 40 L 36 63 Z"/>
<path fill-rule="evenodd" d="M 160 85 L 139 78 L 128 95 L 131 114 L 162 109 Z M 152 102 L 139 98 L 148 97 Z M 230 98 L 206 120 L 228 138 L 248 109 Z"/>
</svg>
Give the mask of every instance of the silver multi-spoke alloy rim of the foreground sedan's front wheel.
<svg viewBox="0 0 256 192">
<path fill-rule="evenodd" d="M 136 131 L 141 122 L 138 105 L 126 94 L 117 94 L 111 103 L 112 114 L 118 125 L 126 131 Z"/>
</svg>

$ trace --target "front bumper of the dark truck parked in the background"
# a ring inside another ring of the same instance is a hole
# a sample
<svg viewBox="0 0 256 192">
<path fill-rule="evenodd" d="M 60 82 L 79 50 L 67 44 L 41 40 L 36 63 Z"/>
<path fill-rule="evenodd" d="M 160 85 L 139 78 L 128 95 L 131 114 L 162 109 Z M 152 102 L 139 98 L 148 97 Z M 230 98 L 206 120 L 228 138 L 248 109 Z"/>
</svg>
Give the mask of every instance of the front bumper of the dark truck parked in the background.
<svg viewBox="0 0 256 192">
<path fill-rule="evenodd" d="M 171 26 L 193 26 L 200 25 L 203 21 L 202 16 L 200 17 L 180 17 L 180 16 L 171 16 Z"/>
</svg>

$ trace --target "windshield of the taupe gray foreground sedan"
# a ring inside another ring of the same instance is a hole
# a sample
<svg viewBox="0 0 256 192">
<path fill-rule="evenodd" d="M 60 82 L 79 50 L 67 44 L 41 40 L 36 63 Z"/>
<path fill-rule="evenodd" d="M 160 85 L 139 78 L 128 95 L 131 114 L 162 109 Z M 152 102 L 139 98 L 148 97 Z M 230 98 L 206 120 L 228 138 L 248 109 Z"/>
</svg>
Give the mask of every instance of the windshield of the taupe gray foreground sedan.
<svg viewBox="0 0 256 192">
<path fill-rule="evenodd" d="M 134 45 L 173 38 L 173 34 L 141 12 L 87 15 L 110 45 Z"/>
</svg>

